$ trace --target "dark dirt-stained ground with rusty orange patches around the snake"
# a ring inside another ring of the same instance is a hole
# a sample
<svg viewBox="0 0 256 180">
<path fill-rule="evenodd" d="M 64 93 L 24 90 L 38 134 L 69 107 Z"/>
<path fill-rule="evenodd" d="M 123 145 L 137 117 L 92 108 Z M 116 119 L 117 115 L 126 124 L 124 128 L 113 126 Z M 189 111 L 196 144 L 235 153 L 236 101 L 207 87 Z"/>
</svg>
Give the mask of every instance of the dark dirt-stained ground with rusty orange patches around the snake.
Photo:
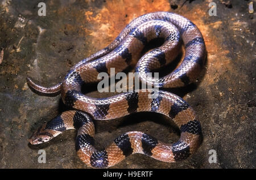
<svg viewBox="0 0 256 180">
<path fill-rule="evenodd" d="M 39 2 L 46 3 L 46 16 L 38 15 Z M 216 2 L 217 16 L 209 16 L 210 2 Z M 196 110 L 203 142 L 184 161 L 167 163 L 136 154 L 113 168 L 255 168 L 255 12 L 249 13 L 251 1 L 225 2 L 1 0 L 0 168 L 88 168 L 76 155 L 75 130 L 42 145 L 28 144 L 36 128 L 67 108 L 60 96 L 32 92 L 26 76 L 46 86 L 59 83 L 71 66 L 105 48 L 131 20 L 154 11 L 183 15 L 203 33 L 208 53 L 204 71 L 197 83 L 174 90 Z M 96 147 L 104 148 L 131 130 L 174 143 L 179 130 L 168 120 L 137 113 L 97 121 Z M 45 164 L 38 162 L 39 149 L 46 151 Z M 209 163 L 210 149 L 216 151 L 217 163 Z"/>
</svg>

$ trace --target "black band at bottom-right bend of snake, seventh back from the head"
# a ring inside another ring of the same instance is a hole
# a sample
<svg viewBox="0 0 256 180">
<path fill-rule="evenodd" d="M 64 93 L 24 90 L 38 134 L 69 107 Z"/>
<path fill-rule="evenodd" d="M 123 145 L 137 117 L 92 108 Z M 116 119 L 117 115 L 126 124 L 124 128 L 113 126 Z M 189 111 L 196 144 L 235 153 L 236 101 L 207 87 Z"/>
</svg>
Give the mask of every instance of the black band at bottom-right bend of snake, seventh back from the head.
<svg viewBox="0 0 256 180">
<path fill-rule="evenodd" d="M 178 141 L 172 145 L 172 153 L 174 154 L 175 161 L 184 160 L 190 155 L 189 145 L 185 142 Z"/>
</svg>

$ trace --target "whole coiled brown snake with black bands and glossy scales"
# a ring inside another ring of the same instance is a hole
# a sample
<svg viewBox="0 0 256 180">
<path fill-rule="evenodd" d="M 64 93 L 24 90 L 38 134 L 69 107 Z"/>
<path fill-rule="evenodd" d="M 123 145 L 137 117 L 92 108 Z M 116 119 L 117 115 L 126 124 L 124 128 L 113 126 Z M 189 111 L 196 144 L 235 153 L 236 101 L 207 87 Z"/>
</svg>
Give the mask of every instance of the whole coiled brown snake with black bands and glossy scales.
<svg viewBox="0 0 256 180">
<path fill-rule="evenodd" d="M 152 40 L 163 44 L 142 54 Z M 160 78 L 148 75 L 177 58 L 181 49 L 184 57 L 178 67 Z M 67 110 L 36 130 L 28 141 L 31 144 L 48 142 L 69 129 L 76 129 L 76 152 L 82 162 L 93 168 L 109 168 L 134 153 L 164 162 L 177 162 L 191 156 L 200 146 L 201 124 L 195 110 L 174 93 L 157 90 L 157 97 L 149 89 L 122 92 L 96 98 L 82 93 L 82 87 L 98 83 L 101 72 L 110 74 L 125 71 L 135 63 L 141 82 L 159 88 L 185 87 L 195 82 L 204 67 L 206 49 L 200 30 L 187 18 L 172 12 L 151 12 L 132 20 L 106 48 L 82 59 L 73 66 L 62 82 L 43 87 L 27 77 L 27 84 L 45 95 L 60 93 Z M 137 112 L 156 112 L 166 115 L 180 129 L 176 143 L 161 142 L 141 131 L 125 132 L 104 149 L 94 147 L 94 120 L 109 120 Z"/>
</svg>

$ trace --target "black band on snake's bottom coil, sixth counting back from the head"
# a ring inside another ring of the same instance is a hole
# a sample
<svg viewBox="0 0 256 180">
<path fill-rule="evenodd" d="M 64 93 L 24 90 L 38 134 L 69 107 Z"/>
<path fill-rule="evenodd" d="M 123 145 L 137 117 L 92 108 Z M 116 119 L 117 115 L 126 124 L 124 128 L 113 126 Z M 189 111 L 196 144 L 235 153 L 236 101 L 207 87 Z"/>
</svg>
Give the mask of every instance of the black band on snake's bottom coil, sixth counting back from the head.
<svg viewBox="0 0 256 180">
<path fill-rule="evenodd" d="M 142 148 L 143 148 L 144 154 L 147 155 L 147 156 L 152 156 L 151 151 L 158 144 L 158 140 L 153 138 L 152 136 L 149 136 L 147 134 L 143 134 L 141 142 L 142 142 Z"/>
</svg>

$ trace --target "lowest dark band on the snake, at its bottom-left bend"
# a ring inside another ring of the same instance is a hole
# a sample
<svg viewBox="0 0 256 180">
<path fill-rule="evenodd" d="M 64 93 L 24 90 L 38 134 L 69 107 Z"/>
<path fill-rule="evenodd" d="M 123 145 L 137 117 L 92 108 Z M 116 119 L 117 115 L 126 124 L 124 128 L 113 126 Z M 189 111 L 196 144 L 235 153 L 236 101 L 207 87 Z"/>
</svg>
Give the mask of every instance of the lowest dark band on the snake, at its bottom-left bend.
<svg viewBox="0 0 256 180">
<path fill-rule="evenodd" d="M 94 168 L 108 167 L 108 153 L 105 150 L 93 152 L 92 156 L 90 156 L 90 165 Z"/>
</svg>

